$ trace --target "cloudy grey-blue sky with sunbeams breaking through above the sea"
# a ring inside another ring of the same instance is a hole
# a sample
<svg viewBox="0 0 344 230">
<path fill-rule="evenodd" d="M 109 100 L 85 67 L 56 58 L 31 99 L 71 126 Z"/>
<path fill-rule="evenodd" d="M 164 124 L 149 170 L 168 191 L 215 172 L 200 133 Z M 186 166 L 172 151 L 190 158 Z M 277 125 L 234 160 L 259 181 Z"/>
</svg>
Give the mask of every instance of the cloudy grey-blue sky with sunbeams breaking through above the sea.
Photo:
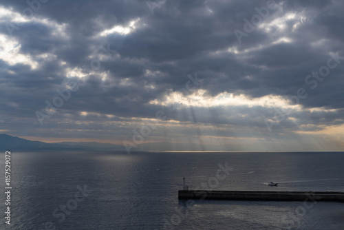
<svg viewBox="0 0 344 230">
<path fill-rule="evenodd" d="M 344 151 L 344 1 L 0 3 L 0 133 Z"/>
</svg>

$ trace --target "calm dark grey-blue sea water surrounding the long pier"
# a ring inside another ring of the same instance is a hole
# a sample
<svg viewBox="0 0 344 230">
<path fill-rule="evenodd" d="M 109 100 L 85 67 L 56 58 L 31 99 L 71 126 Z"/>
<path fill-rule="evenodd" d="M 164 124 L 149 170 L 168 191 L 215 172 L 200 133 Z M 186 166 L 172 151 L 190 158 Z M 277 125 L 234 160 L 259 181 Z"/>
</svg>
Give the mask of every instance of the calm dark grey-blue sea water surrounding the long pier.
<svg viewBox="0 0 344 230">
<path fill-rule="evenodd" d="M 344 203 L 178 200 L 183 176 L 189 189 L 344 191 L 343 153 L 41 151 L 11 163 L 1 229 L 344 229 Z"/>
</svg>

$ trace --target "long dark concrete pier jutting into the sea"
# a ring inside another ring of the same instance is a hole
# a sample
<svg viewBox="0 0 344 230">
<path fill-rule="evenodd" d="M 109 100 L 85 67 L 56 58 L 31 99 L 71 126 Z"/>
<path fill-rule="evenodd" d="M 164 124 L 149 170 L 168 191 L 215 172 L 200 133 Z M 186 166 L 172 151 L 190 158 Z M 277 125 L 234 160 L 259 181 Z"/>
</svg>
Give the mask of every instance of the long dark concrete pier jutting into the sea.
<svg viewBox="0 0 344 230">
<path fill-rule="evenodd" d="M 344 192 L 337 191 L 208 191 L 180 190 L 179 199 L 195 200 L 284 200 L 344 202 Z"/>
</svg>

